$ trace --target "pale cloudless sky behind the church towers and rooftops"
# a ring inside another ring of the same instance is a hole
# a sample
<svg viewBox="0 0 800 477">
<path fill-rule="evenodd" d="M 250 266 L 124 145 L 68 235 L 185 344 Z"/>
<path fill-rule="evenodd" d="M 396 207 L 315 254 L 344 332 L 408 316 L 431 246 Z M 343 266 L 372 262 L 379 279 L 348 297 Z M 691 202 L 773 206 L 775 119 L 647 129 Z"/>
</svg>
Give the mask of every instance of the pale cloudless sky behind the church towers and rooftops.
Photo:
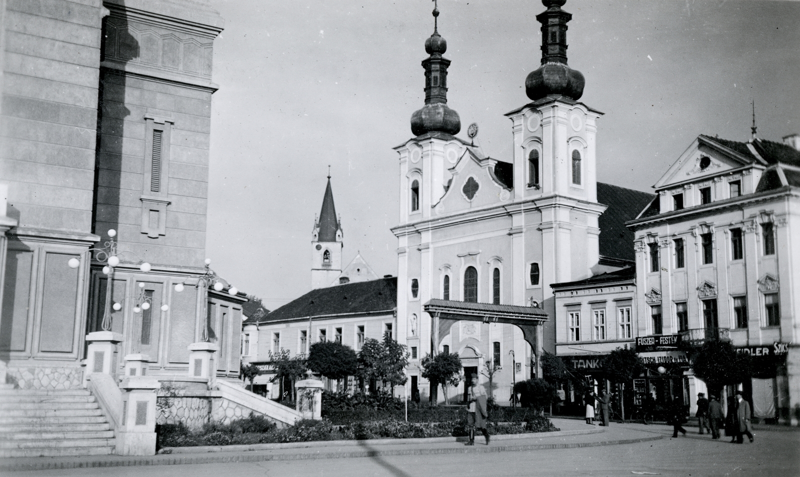
<svg viewBox="0 0 800 477">
<path fill-rule="evenodd" d="M 424 102 L 430 0 L 210 0 L 214 42 L 206 251 L 274 309 L 310 291 L 311 232 L 330 165 L 343 265 L 397 274 L 398 154 Z M 598 120 L 598 181 L 650 188 L 698 134 L 800 133 L 800 2 L 570 0 L 572 68 Z M 531 0 L 439 0 L 448 106 L 511 160 L 511 122 L 541 60 Z"/>
</svg>

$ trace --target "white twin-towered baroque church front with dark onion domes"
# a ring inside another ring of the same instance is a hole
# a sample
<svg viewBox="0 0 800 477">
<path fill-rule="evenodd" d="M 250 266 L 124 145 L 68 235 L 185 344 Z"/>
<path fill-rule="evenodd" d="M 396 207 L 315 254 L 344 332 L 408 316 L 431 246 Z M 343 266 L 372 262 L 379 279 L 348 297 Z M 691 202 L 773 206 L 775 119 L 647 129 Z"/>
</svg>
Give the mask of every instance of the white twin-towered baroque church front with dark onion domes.
<svg viewBox="0 0 800 477">
<path fill-rule="evenodd" d="M 494 399 L 508 403 L 515 382 L 541 376 L 541 352 L 555 351 L 550 283 L 632 264 L 601 255 L 598 219 L 606 205 L 598 202 L 595 136 L 602 113 L 578 101 L 584 78 L 566 64 L 571 14 L 561 10 L 563 2 L 544 3 L 537 17 L 542 66 L 526 78 L 530 102 L 506 114 L 513 158 L 485 156 L 455 136 L 461 124 L 447 104 L 450 61 L 436 26 L 422 62 L 425 106 L 412 115 L 414 137 L 395 148 L 398 336 L 425 353 L 461 357 L 465 380 L 451 400 L 460 399 L 471 374 L 486 383 L 489 370 L 499 368 Z M 450 319 L 442 319 L 447 306 L 440 302 L 466 304 L 452 305 Z M 540 311 L 538 326 L 526 331 L 492 315 L 509 306 Z M 419 372 L 410 367 L 410 376 Z M 430 395 L 426 381 L 415 380 L 421 395 Z"/>
</svg>

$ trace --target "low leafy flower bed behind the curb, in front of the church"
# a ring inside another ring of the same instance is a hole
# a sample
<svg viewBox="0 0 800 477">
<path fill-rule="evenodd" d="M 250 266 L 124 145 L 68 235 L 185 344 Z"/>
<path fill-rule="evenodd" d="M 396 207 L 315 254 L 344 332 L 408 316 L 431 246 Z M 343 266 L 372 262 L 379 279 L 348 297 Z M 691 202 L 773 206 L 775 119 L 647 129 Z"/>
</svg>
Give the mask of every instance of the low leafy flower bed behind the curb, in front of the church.
<svg viewBox="0 0 800 477">
<path fill-rule="evenodd" d="M 490 423 L 492 435 L 558 431 L 550 419 L 532 416 L 516 423 Z M 230 424 L 206 424 L 191 432 L 183 424 L 158 427 L 158 447 L 227 446 L 255 443 L 296 443 L 326 440 L 411 439 L 467 435 L 466 419 L 438 423 L 406 423 L 399 419 L 362 421 L 336 426 L 328 420 L 300 421 L 278 429 L 262 416 L 250 415 Z"/>
</svg>

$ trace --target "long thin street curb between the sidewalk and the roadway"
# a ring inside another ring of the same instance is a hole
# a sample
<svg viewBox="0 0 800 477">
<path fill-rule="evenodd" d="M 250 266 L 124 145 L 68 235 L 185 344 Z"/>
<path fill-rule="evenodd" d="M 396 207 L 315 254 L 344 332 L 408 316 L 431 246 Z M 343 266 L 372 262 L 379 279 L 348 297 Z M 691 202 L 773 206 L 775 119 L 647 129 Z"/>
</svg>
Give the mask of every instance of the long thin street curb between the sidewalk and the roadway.
<svg viewBox="0 0 800 477">
<path fill-rule="evenodd" d="M 365 443 L 360 443 L 366 447 L 362 451 L 339 451 L 339 452 L 306 452 L 298 454 L 237 454 L 237 455 L 194 455 L 191 457 L 172 457 L 171 455 L 156 455 L 154 457 L 139 457 L 132 459 L 118 460 L 82 460 L 82 461 L 43 461 L 36 463 L 3 463 L 0 464 L 0 471 L 43 471 L 52 469 L 76 469 L 94 467 L 131 467 L 131 466 L 152 466 L 152 465 L 182 465 L 182 464 L 202 464 L 202 463 L 246 463 L 246 462 L 265 462 L 265 461 L 291 461 L 307 459 L 350 459 L 358 457 L 378 457 L 389 455 L 443 455 L 443 454 L 486 454 L 489 452 L 512 452 L 512 451 L 543 451 L 550 449 L 575 449 L 580 447 L 600 447 L 618 444 L 644 443 L 663 439 L 663 436 L 646 437 L 642 439 L 618 439 L 598 441 L 593 443 L 569 443 L 569 444 L 529 444 L 529 445 L 507 445 L 492 447 L 454 447 L 444 449 L 393 449 L 377 451 L 371 449 Z"/>
</svg>

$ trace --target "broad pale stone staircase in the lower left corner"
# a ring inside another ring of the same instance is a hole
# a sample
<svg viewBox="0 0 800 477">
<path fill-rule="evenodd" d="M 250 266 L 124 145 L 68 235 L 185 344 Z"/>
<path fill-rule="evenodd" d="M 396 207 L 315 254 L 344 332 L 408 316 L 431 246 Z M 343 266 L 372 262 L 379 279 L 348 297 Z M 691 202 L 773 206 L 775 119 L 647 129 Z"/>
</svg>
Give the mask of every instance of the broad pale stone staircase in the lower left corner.
<svg viewBox="0 0 800 477">
<path fill-rule="evenodd" d="M 0 385 L 0 458 L 109 455 L 114 443 L 89 391 Z"/>
</svg>

